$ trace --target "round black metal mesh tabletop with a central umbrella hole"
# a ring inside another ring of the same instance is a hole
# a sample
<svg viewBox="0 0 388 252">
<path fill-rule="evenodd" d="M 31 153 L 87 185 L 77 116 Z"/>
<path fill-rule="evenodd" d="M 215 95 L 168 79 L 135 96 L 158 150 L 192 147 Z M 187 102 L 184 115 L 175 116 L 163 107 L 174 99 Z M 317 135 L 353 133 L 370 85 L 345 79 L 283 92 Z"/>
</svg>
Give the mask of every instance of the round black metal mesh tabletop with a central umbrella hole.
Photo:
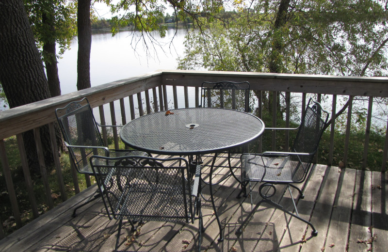
<svg viewBox="0 0 388 252">
<path fill-rule="evenodd" d="M 217 153 L 258 138 L 264 123 L 238 110 L 188 108 L 147 114 L 126 124 L 120 132 L 128 146 L 155 154 L 201 155 Z"/>
</svg>

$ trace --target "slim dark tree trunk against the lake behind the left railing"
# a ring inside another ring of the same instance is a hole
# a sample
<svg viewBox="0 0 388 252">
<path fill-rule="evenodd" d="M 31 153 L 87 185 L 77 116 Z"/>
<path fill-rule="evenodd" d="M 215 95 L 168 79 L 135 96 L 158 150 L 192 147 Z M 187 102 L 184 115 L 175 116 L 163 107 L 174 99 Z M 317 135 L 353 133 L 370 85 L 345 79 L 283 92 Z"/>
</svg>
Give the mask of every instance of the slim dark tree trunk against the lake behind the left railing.
<svg viewBox="0 0 388 252">
<path fill-rule="evenodd" d="M 77 89 L 90 88 L 90 50 L 92 47 L 92 27 L 90 23 L 90 0 L 79 0 L 77 11 L 78 59 Z"/>
</svg>

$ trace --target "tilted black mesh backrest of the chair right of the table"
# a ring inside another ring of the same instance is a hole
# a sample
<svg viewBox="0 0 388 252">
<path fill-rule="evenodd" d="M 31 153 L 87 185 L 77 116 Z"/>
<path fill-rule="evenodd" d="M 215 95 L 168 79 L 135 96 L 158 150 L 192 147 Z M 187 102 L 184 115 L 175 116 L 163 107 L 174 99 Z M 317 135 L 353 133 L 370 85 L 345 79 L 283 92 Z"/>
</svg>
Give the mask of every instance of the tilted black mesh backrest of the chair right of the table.
<svg viewBox="0 0 388 252">
<path fill-rule="evenodd" d="M 322 109 L 321 104 L 308 100 L 305 113 L 302 117 L 296 138 L 291 151 L 311 153 L 311 155 L 298 155 L 300 161 L 310 166 L 312 159 L 317 152 L 324 126 L 327 123 L 329 113 Z M 306 168 L 307 168 L 306 167 Z"/>
</svg>

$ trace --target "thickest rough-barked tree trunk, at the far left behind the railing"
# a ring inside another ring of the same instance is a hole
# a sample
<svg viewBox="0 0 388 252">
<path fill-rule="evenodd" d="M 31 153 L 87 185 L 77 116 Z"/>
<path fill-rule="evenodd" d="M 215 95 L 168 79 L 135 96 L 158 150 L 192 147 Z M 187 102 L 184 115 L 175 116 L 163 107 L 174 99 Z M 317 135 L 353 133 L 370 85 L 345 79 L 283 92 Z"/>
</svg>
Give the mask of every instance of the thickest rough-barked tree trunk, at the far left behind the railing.
<svg viewBox="0 0 388 252">
<path fill-rule="evenodd" d="M 0 81 L 10 108 L 50 97 L 42 60 L 22 0 L 0 1 Z M 48 127 L 41 127 L 46 165 L 53 163 Z M 39 171 L 32 131 L 24 133 L 32 173 Z"/>
</svg>

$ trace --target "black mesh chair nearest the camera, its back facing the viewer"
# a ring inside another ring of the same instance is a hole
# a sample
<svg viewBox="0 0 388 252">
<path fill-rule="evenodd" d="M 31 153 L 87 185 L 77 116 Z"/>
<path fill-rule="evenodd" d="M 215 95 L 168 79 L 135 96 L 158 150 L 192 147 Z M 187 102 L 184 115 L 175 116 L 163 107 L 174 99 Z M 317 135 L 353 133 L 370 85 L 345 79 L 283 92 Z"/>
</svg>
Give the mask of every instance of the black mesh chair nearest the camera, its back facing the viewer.
<svg viewBox="0 0 388 252">
<path fill-rule="evenodd" d="M 90 158 L 97 183 L 108 202 L 108 213 L 119 220 L 115 250 L 119 247 L 123 219 L 140 221 L 179 221 L 199 219 L 198 251 L 204 231 L 201 213 L 200 169 L 189 172 L 182 157 L 98 157 Z M 176 166 L 181 163 L 182 166 Z M 194 181 L 192 181 L 192 176 Z"/>
</svg>

